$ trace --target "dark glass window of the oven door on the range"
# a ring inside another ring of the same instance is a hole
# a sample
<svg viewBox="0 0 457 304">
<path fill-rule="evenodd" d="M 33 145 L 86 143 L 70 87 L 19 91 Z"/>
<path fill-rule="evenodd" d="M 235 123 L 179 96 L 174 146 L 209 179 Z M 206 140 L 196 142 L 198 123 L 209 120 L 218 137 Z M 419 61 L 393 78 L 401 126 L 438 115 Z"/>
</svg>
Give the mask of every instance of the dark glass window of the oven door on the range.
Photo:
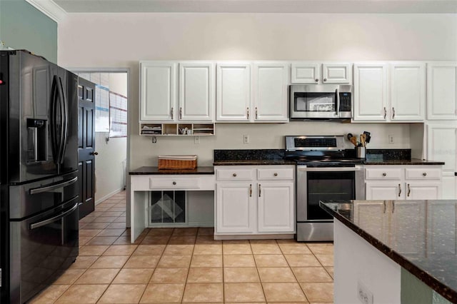
<svg viewBox="0 0 457 304">
<path fill-rule="evenodd" d="M 333 217 L 319 207 L 319 201 L 356 198 L 355 172 L 308 172 L 308 220 L 330 220 Z"/>
</svg>

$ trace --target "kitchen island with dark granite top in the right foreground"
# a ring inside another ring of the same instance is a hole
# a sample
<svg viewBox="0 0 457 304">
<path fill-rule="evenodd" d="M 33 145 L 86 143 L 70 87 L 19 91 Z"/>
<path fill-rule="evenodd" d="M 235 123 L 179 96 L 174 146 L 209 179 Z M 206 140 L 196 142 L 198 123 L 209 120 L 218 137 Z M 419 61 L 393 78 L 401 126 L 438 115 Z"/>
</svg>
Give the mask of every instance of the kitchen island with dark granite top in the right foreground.
<svg viewBox="0 0 457 304">
<path fill-rule="evenodd" d="M 335 218 L 335 303 L 457 303 L 457 201 L 320 206 Z"/>
</svg>

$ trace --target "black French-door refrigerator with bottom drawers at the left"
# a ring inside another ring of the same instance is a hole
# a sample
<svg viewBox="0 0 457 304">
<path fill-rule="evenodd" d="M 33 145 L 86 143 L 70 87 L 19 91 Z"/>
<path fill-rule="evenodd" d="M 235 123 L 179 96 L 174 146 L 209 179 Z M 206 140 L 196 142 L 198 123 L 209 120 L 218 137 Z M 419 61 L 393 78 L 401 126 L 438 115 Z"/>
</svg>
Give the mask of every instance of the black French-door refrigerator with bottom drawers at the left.
<svg viewBox="0 0 457 304">
<path fill-rule="evenodd" d="M 78 77 L 0 51 L 1 303 L 24 303 L 79 253 Z"/>
</svg>

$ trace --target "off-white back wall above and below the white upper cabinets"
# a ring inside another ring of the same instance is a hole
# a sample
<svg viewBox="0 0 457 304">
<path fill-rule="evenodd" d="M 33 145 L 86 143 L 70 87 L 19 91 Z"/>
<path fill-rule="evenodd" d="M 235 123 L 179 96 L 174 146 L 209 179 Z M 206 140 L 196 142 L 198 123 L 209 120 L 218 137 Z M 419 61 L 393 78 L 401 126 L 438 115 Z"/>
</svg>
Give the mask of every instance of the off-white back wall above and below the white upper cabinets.
<svg viewBox="0 0 457 304">
<path fill-rule="evenodd" d="M 154 166 L 163 153 L 195 153 L 209 165 L 214 148 L 283 148 L 283 136 L 294 134 L 370 131 L 369 148 L 409 148 L 408 124 L 330 122 L 218 123 L 200 145 L 193 137 L 153 144 L 137 135 L 139 60 L 456 61 L 457 15 L 69 14 L 59 24 L 58 56 L 61 66 L 131 69 L 131 168 Z M 251 143 L 242 143 L 243 134 Z"/>
</svg>

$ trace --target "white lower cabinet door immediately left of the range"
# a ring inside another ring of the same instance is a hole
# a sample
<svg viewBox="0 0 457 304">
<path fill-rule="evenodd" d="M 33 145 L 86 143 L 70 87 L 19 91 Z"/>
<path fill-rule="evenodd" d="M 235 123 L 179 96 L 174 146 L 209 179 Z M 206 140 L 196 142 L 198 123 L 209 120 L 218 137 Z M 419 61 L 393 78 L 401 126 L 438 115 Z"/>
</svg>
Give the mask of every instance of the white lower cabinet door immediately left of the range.
<svg viewBox="0 0 457 304">
<path fill-rule="evenodd" d="M 258 184 L 257 208 L 259 232 L 294 232 L 293 189 L 293 183 Z"/>
</svg>

